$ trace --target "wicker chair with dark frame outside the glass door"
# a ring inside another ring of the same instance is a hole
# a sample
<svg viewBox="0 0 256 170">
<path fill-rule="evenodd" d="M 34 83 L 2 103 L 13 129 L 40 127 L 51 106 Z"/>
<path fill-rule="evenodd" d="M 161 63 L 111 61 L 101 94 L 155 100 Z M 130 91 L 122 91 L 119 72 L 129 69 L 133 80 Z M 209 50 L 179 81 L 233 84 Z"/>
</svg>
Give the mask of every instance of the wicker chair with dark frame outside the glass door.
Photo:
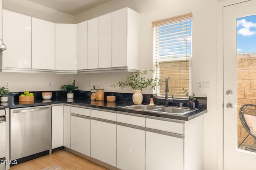
<svg viewBox="0 0 256 170">
<path fill-rule="evenodd" d="M 246 123 L 246 120 L 244 119 L 244 114 L 246 115 L 252 115 L 252 116 L 256 116 L 256 105 L 254 104 L 245 104 L 243 105 L 241 108 L 240 108 L 240 111 L 239 111 L 239 117 L 240 117 L 240 120 L 241 120 L 241 123 L 242 125 L 244 126 L 244 129 L 249 133 L 246 138 L 251 135 L 252 137 L 254 137 L 254 144 L 255 144 L 255 149 L 252 150 L 248 147 L 244 147 L 244 149 L 246 150 L 250 150 L 252 152 L 256 152 L 256 136 L 254 136 L 251 131 L 250 131 L 250 128 L 248 127 L 247 123 Z M 256 122 L 255 122 L 256 123 Z M 245 139 L 246 139 L 245 138 Z M 242 141 L 242 143 L 245 141 L 245 139 Z M 242 145 L 242 143 L 240 145 Z M 238 148 L 240 147 L 240 145 L 238 146 Z"/>
</svg>

